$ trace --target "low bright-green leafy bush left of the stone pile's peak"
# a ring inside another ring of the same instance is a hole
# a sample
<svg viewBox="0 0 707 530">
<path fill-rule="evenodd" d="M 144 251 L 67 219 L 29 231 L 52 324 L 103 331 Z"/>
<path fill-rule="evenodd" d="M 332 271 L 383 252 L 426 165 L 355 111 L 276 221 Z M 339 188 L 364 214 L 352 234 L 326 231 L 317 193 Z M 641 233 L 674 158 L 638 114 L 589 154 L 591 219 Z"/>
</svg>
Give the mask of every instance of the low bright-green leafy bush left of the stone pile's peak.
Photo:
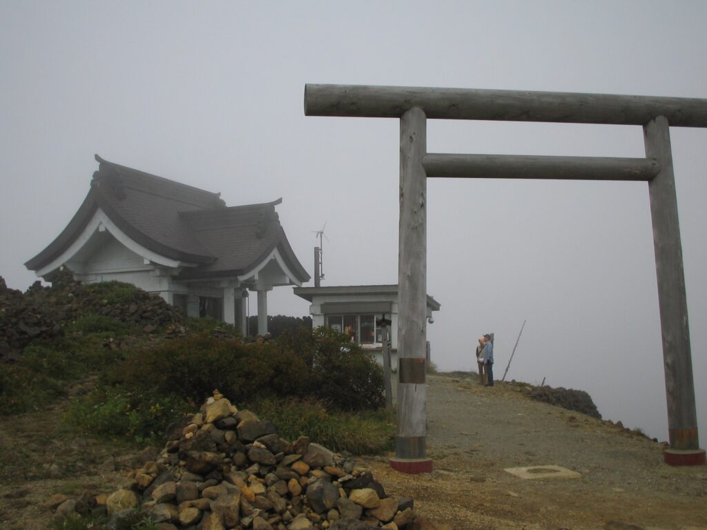
<svg viewBox="0 0 707 530">
<path fill-rule="evenodd" d="M 64 420 L 94 434 L 150 443 L 159 442 L 165 428 L 190 408 L 173 394 L 108 387 L 74 401 Z"/>
</svg>

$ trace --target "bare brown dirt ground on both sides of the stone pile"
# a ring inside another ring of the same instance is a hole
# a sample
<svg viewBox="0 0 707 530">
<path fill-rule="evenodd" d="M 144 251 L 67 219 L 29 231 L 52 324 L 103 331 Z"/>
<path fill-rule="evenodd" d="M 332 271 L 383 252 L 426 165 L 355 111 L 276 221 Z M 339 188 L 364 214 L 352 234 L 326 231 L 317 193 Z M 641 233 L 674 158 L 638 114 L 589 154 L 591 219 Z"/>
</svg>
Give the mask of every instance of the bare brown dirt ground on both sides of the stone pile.
<svg viewBox="0 0 707 530">
<path fill-rule="evenodd" d="M 662 412 L 661 412 L 662 413 Z M 135 448 L 73 437 L 62 404 L 0 420 L 0 529 L 45 530 L 53 493 L 112 491 Z M 435 471 L 390 469 L 364 458 L 394 497 L 414 497 L 436 524 L 464 529 L 707 529 L 707 466 L 673 468 L 634 432 L 532 401 L 522 384 L 428 376 L 428 456 Z M 523 480 L 504 471 L 556 464 L 580 478 Z M 55 478 L 52 478 L 52 475 Z M 70 476 L 70 478 L 62 478 Z"/>
</svg>

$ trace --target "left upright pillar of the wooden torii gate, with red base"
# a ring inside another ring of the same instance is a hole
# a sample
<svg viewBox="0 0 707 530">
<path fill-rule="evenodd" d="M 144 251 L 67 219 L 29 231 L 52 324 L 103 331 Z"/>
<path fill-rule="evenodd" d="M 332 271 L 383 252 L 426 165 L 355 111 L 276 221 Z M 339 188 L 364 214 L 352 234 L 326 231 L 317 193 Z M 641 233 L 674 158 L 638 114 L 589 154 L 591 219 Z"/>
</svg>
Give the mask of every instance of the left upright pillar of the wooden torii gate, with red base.
<svg viewBox="0 0 707 530">
<path fill-rule="evenodd" d="M 411 108 L 400 117 L 397 432 L 393 469 L 432 471 L 426 457 L 427 151 L 426 116 Z"/>
</svg>

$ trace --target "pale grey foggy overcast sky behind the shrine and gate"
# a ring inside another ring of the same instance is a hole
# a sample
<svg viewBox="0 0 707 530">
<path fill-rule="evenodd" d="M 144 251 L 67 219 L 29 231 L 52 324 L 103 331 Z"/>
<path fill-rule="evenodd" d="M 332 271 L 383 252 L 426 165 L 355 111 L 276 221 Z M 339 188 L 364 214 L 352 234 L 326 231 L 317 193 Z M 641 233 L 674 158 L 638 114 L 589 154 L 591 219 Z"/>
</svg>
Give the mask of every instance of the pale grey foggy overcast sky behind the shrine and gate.
<svg viewBox="0 0 707 530">
<path fill-rule="evenodd" d="M 272 201 L 322 285 L 397 282 L 397 119 L 305 117 L 305 83 L 707 98 L 704 1 L 0 0 L 0 275 L 88 193 L 94 153 Z M 701 446 L 707 444 L 704 129 L 671 129 Z M 640 127 L 428 122 L 428 151 L 643 157 Z M 645 183 L 428 182 L 433 360 L 585 389 L 605 418 L 667 439 Z M 308 304 L 276 288 L 271 314 Z"/>
</svg>

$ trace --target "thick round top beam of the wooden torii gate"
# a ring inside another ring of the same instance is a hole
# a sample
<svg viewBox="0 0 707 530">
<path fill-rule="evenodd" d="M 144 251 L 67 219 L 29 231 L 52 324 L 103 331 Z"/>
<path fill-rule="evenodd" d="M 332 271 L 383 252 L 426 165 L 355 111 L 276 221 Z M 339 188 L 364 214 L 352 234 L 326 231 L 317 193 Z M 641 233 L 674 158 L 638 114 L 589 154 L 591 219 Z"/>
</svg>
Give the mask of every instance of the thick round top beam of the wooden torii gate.
<svg viewBox="0 0 707 530">
<path fill-rule="evenodd" d="M 419 107 L 431 119 L 707 127 L 707 99 L 480 88 L 305 85 L 306 116 L 399 118 Z"/>
</svg>

